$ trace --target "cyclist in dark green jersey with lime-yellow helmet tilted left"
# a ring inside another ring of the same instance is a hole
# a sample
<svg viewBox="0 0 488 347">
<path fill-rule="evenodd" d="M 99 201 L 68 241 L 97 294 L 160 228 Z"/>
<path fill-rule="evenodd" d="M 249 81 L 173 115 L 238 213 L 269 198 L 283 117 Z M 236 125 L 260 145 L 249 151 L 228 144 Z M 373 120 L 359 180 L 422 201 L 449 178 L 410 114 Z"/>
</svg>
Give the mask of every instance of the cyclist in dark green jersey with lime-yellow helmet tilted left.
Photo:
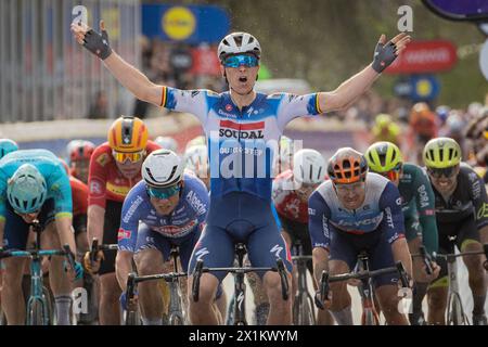
<svg viewBox="0 0 488 347">
<path fill-rule="evenodd" d="M 419 166 L 403 162 L 400 149 L 391 142 L 373 143 L 364 154 L 370 170 L 389 179 L 400 191 L 404 217 L 404 235 L 411 254 L 419 254 L 424 245 L 428 254 L 438 249 L 434 192 L 427 174 Z M 440 268 L 433 261 L 433 272 L 427 274 L 422 258 L 413 258 L 413 312 L 412 325 L 426 323 L 422 301 L 428 284 L 437 278 Z"/>
</svg>

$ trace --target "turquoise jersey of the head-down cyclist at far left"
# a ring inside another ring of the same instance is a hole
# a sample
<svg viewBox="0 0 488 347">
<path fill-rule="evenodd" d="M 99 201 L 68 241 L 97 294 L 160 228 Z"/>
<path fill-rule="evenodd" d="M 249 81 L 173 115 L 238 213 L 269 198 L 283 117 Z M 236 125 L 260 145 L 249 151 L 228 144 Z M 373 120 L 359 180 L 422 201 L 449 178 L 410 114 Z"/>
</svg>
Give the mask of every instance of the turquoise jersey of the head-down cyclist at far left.
<svg viewBox="0 0 488 347">
<path fill-rule="evenodd" d="M 9 153 L 0 160 L 0 219 L 5 218 L 8 179 L 24 164 L 34 165 L 48 185 L 47 200 L 54 201 L 56 217 L 72 216 L 72 187 L 69 178 L 59 158 L 47 150 L 23 150 Z"/>
</svg>

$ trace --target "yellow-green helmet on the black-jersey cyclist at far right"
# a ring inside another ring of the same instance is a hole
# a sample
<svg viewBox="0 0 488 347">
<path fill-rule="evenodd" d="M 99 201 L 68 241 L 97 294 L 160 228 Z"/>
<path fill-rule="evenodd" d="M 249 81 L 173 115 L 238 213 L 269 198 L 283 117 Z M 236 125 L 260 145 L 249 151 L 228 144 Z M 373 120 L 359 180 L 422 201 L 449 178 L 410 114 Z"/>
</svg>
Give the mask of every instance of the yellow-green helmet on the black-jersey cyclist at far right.
<svg viewBox="0 0 488 347">
<path fill-rule="evenodd" d="M 424 147 L 424 164 L 428 168 L 444 169 L 461 163 L 461 147 L 451 138 L 436 138 Z"/>
</svg>

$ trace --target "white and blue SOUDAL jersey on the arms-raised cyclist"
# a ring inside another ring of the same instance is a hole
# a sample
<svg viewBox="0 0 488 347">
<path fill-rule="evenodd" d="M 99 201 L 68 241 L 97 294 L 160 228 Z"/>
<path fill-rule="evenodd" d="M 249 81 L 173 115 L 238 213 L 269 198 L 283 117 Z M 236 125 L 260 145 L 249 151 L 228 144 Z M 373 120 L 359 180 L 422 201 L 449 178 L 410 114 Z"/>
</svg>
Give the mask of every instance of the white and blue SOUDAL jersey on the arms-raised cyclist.
<svg viewBox="0 0 488 347">
<path fill-rule="evenodd" d="M 287 123 L 321 113 L 318 94 L 257 93 L 240 111 L 229 92 L 163 87 L 160 105 L 194 114 L 207 136 L 213 197 L 246 192 L 271 203 L 273 156 Z"/>
</svg>

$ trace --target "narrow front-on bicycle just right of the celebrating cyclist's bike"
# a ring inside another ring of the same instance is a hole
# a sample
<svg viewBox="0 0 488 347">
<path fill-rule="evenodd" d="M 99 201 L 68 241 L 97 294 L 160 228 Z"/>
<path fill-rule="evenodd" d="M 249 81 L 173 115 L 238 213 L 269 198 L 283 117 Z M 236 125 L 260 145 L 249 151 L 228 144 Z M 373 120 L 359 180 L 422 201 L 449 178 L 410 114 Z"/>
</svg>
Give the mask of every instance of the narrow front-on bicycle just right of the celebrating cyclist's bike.
<svg viewBox="0 0 488 347">
<path fill-rule="evenodd" d="M 316 325 L 313 298 L 308 291 L 307 284 L 307 262 L 311 260 L 312 256 L 304 256 L 304 247 L 300 242 L 297 242 L 294 248 L 296 249 L 296 256 L 293 256 L 292 260 L 296 265 L 298 287 L 293 304 L 293 324 Z"/>
</svg>

